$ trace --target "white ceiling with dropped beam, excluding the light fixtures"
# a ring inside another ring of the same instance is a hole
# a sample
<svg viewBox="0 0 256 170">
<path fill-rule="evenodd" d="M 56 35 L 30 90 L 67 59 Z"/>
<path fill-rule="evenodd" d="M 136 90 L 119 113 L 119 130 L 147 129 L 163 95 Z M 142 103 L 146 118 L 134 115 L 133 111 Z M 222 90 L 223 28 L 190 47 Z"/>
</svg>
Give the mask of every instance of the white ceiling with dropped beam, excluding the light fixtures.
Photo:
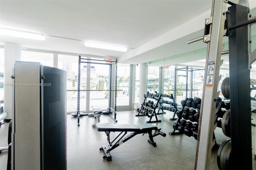
<svg viewBox="0 0 256 170">
<path fill-rule="evenodd" d="M 211 6 L 212 0 L 0 0 L 0 27 L 46 35 L 45 41 L 1 36 L 0 44 L 145 63 L 205 47 L 186 42 L 203 35 Z M 129 49 L 85 47 L 86 40 Z"/>
</svg>

